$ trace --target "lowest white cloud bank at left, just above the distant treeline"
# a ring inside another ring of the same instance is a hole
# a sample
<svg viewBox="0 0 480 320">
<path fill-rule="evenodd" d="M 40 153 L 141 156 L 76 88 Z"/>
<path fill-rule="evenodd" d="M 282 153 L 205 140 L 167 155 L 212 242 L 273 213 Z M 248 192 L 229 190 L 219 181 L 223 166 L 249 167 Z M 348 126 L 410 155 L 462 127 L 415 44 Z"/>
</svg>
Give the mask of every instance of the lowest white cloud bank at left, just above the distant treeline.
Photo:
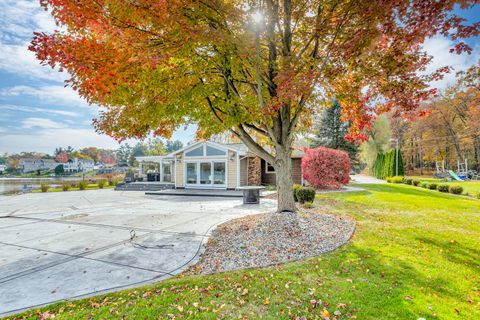
<svg viewBox="0 0 480 320">
<path fill-rule="evenodd" d="M 0 135 L 0 153 L 37 151 L 51 153 L 56 147 L 72 146 L 75 149 L 96 146 L 117 149 L 118 142 L 92 129 L 39 129 L 34 133 Z"/>
</svg>

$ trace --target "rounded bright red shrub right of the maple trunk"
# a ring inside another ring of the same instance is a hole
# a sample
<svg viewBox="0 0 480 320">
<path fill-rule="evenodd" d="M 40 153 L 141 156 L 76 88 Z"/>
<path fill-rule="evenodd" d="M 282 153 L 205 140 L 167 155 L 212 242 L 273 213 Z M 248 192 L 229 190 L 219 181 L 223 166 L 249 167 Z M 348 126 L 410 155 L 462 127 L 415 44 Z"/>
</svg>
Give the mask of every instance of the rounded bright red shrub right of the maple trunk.
<svg viewBox="0 0 480 320">
<path fill-rule="evenodd" d="M 302 174 L 317 189 L 340 189 L 350 180 L 350 158 L 341 150 L 325 147 L 305 149 Z"/>
</svg>

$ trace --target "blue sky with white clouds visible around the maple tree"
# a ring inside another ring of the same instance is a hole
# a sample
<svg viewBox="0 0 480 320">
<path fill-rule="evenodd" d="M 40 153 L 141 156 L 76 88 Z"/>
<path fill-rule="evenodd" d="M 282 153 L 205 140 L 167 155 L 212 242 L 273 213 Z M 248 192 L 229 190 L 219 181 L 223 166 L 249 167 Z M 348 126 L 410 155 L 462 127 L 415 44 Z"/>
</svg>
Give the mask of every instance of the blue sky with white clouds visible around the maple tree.
<svg viewBox="0 0 480 320">
<path fill-rule="evenodd" d="M 460 14 L 477 21 L 480 8 Z M 41 66 L 27 50 L 34 31 L 54 29 L 53 18 L 39 7 L 38 1 L 0 0 L 0 153 L 52 153 L 56 147 L 67 146 L 119 147 L 115 140 L 93 129 L 91 122 L 98 107 L 88 105 L 71 88 L 64 87 L 65 73 Z M 458 56 L 449 53 L 453 46 L 449 39 L 435 37 L 426 41 L 424 47 L 434 57 L 427 71 L 445 65 L 455 70 L 432 86 L 445 88 L 455 81 L 455 72 L 479 60 L 480 39 L 470 39 L 469 44 L 473 53 Z M 173 135 L 184 144 L 194 138 L 195 126 Z"/>
</svg>

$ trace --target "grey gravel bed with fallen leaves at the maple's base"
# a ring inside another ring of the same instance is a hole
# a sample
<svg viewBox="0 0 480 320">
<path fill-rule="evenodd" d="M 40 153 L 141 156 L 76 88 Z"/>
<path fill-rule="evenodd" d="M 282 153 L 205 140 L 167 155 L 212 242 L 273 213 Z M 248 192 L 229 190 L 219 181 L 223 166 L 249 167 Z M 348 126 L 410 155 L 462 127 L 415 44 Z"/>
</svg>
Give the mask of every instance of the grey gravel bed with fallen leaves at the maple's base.
<svg viewBox="0 0 480 320">
<path fill-rule="evenodd" d="M 300 211 L 262 213 L 219 225 L 199 263 L 188 273 L 266 267 L 335 250 L 347 243 L 355 221 Z"/>
</svg>

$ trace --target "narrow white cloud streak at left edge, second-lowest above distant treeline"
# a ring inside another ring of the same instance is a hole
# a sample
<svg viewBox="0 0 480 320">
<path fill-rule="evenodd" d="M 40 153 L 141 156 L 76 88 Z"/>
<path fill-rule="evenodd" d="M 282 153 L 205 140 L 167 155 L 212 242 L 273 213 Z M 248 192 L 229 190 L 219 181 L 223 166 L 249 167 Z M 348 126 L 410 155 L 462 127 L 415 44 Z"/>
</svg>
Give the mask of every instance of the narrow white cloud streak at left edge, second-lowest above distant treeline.
<svg viewBox="0 0 480 320">
<path fill-rule="evenodd" d="M 0 96 L 30 96 L 56 105 L 89 107 L 88 103 L 83 100 L 72 88 L 64 86 L 14 86 L 0 90 Z"/>
</svg>

